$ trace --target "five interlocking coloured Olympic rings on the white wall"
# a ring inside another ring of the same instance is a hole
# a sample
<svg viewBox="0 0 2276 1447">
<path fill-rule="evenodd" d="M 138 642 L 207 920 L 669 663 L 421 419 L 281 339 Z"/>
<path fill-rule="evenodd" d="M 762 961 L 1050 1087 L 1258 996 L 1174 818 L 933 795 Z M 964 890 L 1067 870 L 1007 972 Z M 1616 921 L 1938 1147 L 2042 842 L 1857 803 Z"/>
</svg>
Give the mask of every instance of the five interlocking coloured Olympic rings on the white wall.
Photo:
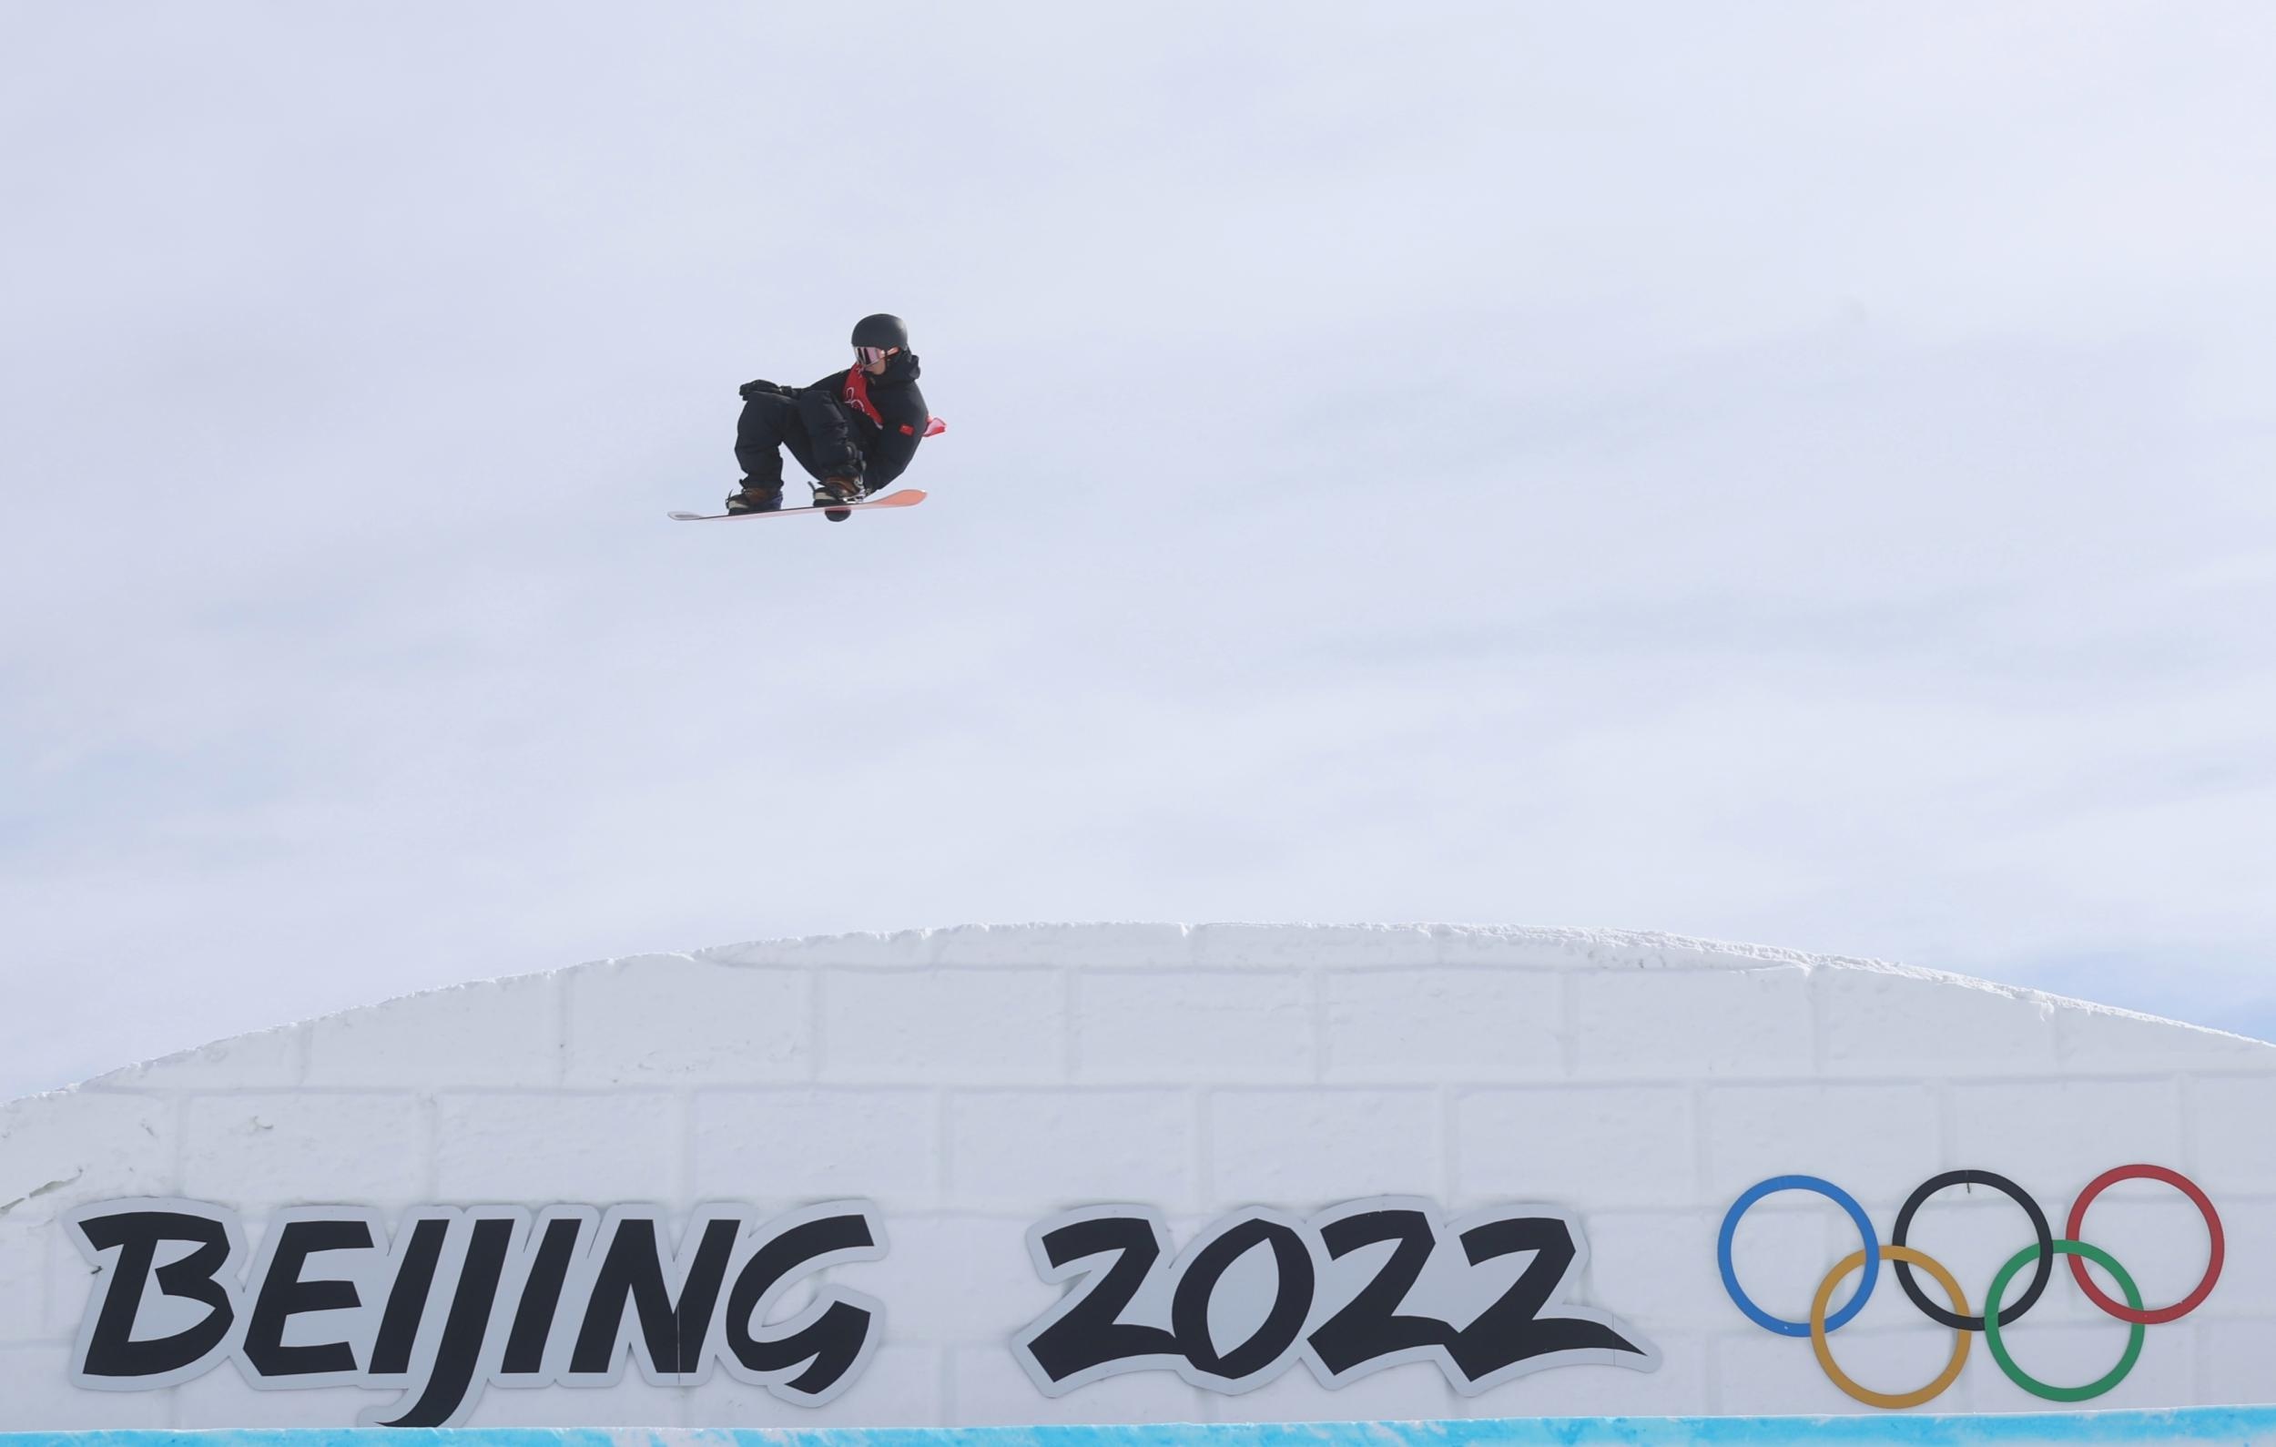
<svg viewBox="0 0 2276 1447">
<path fill-rule="evenodd" d="M 2103 1194 L 2119 1181 L 2162 1181 L 2174 1190 L 2183 1192 L 2185 1197 L 2190 1197 L 2196 1210 L 2205 1217 L 2205 1233 L 2212 1240 L 2212 1254 L 2205 1263 L 2205 1274 L 2196 1283 L 2196 1290 L 2192 1290 L 2180 1301 L 2174 1301 L 2171 1306 L 2158 1306 L 2158 1308 L 2142 1306 L 2142 1292 L 2135 1288 L 2133 1276 L 2126 1274 L 2126 1267 L 2121 1267 L 2117 1258 L 2103 1251 L 2101 1247 L 2089 1247 L 2080 1238 L 2080 1231 L 2087 1222 L 2087 1206 L 2094 1204 L 2094 1197 Z M 1905 1245 L 1905 1233 L 1912 1231 L 1912 1217 L 1919 1215 L 1921 1206 L 1928 1204 L 1928 1197 L 1937 1194 L 1946 1185 L 1989 1185 L 1991 1190 L 2005 1194 L 2007 1199 L 2012 1199 L 2017 1206 L 2023 1208 L 2023 1215 L 2030 1217 L 2030 1229 L 2037 1235 L 2032 1245 L 2017 1251 L 2012 1258 L 2007 1258 L 2007 1263 L 1998 1272 L 1994 1272 L 1991 1285 L 1989 1290 L 1985 1290 L 1982 1315 L 1969 1315 L 1966 1295 L 1960 1290 L 1960 1281 L 1955 1281 L 1951 1272 L 1946 1272 L 1928 1254 L 1914 1251 L 1912 1247 Z M 1848 1256 L 1834 1263 L 1834 1270 L 1825 1272 L 1825 1281 L 1819 1283 L 1816 1299 L 1809 1301 L 1807 1322 L 1789 1322 L 1784 1317 L 1773 1317 L 1771 1313 L 1755 1306 L 1755 1301 L 1746 1295 L 1746 1288 L 1739 1285 L 1739 1272 L 1730 1263 L 1730 1242 L 1739 1233 L 1739 1217 L 1746 1215 L 1748 1206 L 1780 1190 L 1809 1190 L 1830 1199 L 1834 1206 L 1848 1213 L 1850 1222 L 1857 1224 L 1857 1235 L 1864 1238 L 1862 1251 L 1850 1251 Z M 1944 1172 L 1941 1176 L 1930 1176 L 1928 1181 L 1923 1181 L 1921 1188 L 1914 1190 L 1912 1197 L 1905 1199 L 1905 1206 L 1896 1213 L 1896 1231 L 1889 1233 L 1889 1245 L 1878 1242 L 1878 1238 L 1873 1235 L 1873 1222 L 1866 1219 L 1864 1208 L 1857 1204 L 1853 1194 L 1848 1194 L 1839 1185 L 1821 1181 L 1816 1176 L 1771 1176 L 1768 1181 L 1753 1185 L 1743 1197 L 1732 1201 L 1730 1210 L 1723 1215 L 1723 1235 L 1716 1240 L 1716 1265 L 1723 1270 L 1723 1290 L 1730 1292 L 1730 1299 L 1739 1306 L 1739 1310 L 1748 1315 L 1750 1322 L 1755 1322 L 1766 1331 L 1775 1331 L 1780 1336 L 1807 1336 L 1812 1351 L 1816 1351 L 1819 1365 L 1825 1370 L 1825 1376 L 1830 1376 L 1837 1388 L 1841 1388 L 1857 1401 L 1864 1401 L 1869 1406 L 1903 1408 L 1932 1401 L 1937 1395 L 1944 1392 L 1944 1388 L 1960 1381 L 1960 1370 L 1969 1361 L 1971 1331 L 1980 1331 L 1985 1336 L 1985 1347 L 1991 1349 L 1991 1358 L 1998 1363 L 2001 1372 L 2005 1372 L 2007 1381 L 2017 1383 L 2026 1392 L 2046 1397 L 2048 1401 L 2087 1401 L 2089 1397 L 2101 1397 L 2117 1383 L 2126 1381 L 2126 1374 L 2133 1372 L 2135 1361 L 2142 1356 L 2142 1338 L 2146 1326 L 2185 1317 L 2192 1310 L 2196 1310 L 2205 1301 L 2205 1297 L 2212 1295 L 2212 1283 L 2221 1279 L 2221 1258 L 2226 1256 L 2226 1249 L 2228 1249 L 2226 1238 L 2221 1235 L 2221 1213 L 2212 1208 L 2212 1201 L 2205 1197 L 2203 1190 L 2196 1188 L 2194 1181 L 2190 1181 L 2180 1172 L 2164 1169 L 2162 1165 L 2121 1165 L 2103 1172 L 2101 1176 L 2089 1181 L 2083 1192 L 2078 1192 L 2078 1199 L 2071 1201 L 2071 1215 L 2062 1226 L 2060 1240 L 2048 1229 L 2046 1213 L 2039 1210 L 2039 1204 L 2032 1201 L 2023 1192 L 2023 1188 L 2019 1188 L 2014 1181 L 2010 1181 L 2007 1176 L 1996 1176 L 1991 1172 Z M 2046 1290 L 2046 1283 L 2055 1270 L 2055 1256 L 2071 1258 L 2071 1279 L 2078 1281 L 2078 1290 L 2087 1295 L 2087 1301 L 2094 1301 L 2094 1306 L 2098 1306 L 2103 1313 L 2130 1326 L 2130 1331 L 2126 1333 L 2126 1351 L 2124 1356 L 2119 1356 L 2119 1365 L 2114 1365 L 2110 1372 L 2085 1386 L 2053 1386 L 2046 1381 L 2037 1381 L 2035 1376 L 2023 1372 L 2023 1367 L 2014 1365 L 2014 1358 L 2007 1356 L 2007 1347 L 2001 1340 L 2001 1329 L 2014 1326 L 2014 1322 L 2026 1310 L 2030 1310 L 2032 1304 L 2037 1304 L 2039 1292 Z M 1905 1288 L 1905 1295 L 1912 1299 L 1912 1304 L 1919 1306 L 1932 1322 L 1951 1326 L 1955 1333 L 1953 1356 L 1951 1361 L 1944 1363 L 1944 1370 L 1937 1374 L 1937 1379 L 1910 1392 L 1875 1392 L 1866 1386 L 1859 1386 L 1834 1363 L 1832 1347 L 1825 1340 L 1841 1326 L 1848 1326 L 1848 1322 L 1859 1310 L 1864 1310 L 1866 1299 L 1873 1295 L 1873 1285 L 1880 1281 L 1882 1260 L 1889 1260 L 1896 1267 L 1896 1283 Z M 2119 1290 L 2126 1292 L 2124 1306 L 2112 1301 L 2108 1292 L 2094 1285 L 2094 1281 L 2087 1276 L 2089 1260 L 2110 1272 L 2110 1276 L 2119 1283 Z M 1928 1299 L 1928 1292 L 1921 1290 L 1921 1283 L 1914 1279 L 1912 1267 L 1921 1267 L 1923 1272 L 1937 1279 L 1937 1285 L 1951 1301 L 1948 1310 Z M 2012 1304 L 2001 1306 L 2007 1299 L 2010 1283 L 2014 1283 L 2017 1274 L 2023 1267 L 2030 1267 L 2032 1272 L 2030 1285 L 2026 1285 L 2023 1295 L 2017 1297 Z M 1864 1279 L 1857 1283 L 1857 1295 L 1848 1299 L 1848 1306 L 1828 1315 L 1834 1288 L 1839 1288 L 1841 1281 L 1857 1270 L 1864 1272 Z"/>
</svg>

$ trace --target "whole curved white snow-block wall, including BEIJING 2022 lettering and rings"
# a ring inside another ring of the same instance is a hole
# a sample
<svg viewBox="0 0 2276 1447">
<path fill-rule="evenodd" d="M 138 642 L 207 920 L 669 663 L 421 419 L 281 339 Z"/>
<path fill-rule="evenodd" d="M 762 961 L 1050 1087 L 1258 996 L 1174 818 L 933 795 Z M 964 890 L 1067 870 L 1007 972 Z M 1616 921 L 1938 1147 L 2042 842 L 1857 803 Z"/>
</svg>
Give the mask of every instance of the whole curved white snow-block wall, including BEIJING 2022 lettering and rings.
<svg viewBox="0 0 2276 1447">
<path fill-rule="evenodd" d="M 0 1106 L 0 1429 L 2276 1440 L 2269 1119 L 2271 1044 L 1671 935 L 599 960 Z M 2139 1310 L 2032 1285 L 2073 1217 Z"/>
</svg>

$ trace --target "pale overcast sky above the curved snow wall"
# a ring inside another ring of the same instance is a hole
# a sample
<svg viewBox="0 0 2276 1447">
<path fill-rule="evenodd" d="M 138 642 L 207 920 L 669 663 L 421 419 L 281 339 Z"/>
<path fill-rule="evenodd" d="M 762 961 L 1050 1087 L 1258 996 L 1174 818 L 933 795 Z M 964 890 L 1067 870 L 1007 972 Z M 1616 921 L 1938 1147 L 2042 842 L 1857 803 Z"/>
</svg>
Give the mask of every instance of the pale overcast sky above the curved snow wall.
<svg viewBox="0 0 2276 1447">
<path fill-rule="evenodd" d="M 1655 928 L 2276 1035 L 2276 9 L 0 0 L 0 1097 Z M 917 512 L 676 526 L 908 319 Z"/>
</svg>

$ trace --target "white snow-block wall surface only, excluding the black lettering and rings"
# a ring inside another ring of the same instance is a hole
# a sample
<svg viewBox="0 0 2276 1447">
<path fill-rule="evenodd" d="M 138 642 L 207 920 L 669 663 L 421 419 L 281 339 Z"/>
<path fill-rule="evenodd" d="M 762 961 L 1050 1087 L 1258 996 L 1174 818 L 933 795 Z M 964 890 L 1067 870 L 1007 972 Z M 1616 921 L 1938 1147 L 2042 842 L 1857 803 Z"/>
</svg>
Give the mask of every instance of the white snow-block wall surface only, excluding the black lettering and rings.
<svg viewBox="0 0 2276 1447">
<path fill-rule="evenodd" d="M 253 1390 L 232 1365 L 150 1392 L 73 1388 L 93 1276 L 64 1215 L 121 1197 L 228 1206 L 255 1247 L 271 1213 L 305 1204 L 876 1204 L 890 1254 L 831 1281 L 885 1304 L 883 1347 L 828 1406 L 628 1372 L 608 1390 L 489 1390 L 476 1427 L 1850 1413 L 1869 1408 L 1807 1340 L 1753 1324 L 1723 1288 L 1716 1235 L 1741 1192 L 1823 1176 L 1887 1242 L 1919 1183 L 1991 1169 L 2060 1235 L 2080 1188 L 2130 1163 L 2210 1194 L 2226 1265 L 2089 1406 L 2260 1404 L 2276 1401 L 2271 1122 L 2269 1044 L 1650 935 L 1024 926 L 608 960 L 244 1035 L 0 1110 L 0 1429 L 351 1427 L 391 1399 Z M 1049 1215 L 1149 1204 L 1184 1245 L 1234 1208 L 1302 1217 L 1384 1194 L 1570 1213 L 1589 1263 L 1566 1301 L 1648 1336 L 1659 1370 L 1557 1367 L 1475 1397 L 1427 1363 L 1341 1390 L 1290 1370 L 1247 1395 L 1140 1372 L 1054 1399 L 1011 1354 L 1063 1292 L 1024 1245 Z M 2196 1206 L 2164 1185 L 2110 1190 L 2085 1238 L 2151 1306 L 2208 1260 Z M 1978 1308 L 2030 1240 L 1982 1190 L 1937 1194 L 1912 1226 Z M 1803 1317 L 1857 1245 L 1837 1206 L 1784 1192 L 1741 1222 L 1737 1272 L 1766 1310 Z M 2058 1272 L 2007 1345 L 2028 1372 L 2080 1383 L 2126 1336 Z M 1925 1383 L 1951 1345 L 1887 1270 L 1832 1336 L 1841 1367 L 1882 1390 Z M 2046 1406 L 1978 1340 L 1928 1411 Z"/>
</svg>

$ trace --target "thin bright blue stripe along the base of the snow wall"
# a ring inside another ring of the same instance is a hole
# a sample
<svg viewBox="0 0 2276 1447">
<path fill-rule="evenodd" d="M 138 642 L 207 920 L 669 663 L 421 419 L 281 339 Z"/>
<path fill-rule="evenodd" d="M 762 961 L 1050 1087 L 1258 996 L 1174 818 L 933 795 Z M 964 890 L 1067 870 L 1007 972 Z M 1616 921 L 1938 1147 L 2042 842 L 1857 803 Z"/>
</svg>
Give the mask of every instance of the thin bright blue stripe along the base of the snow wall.
<svg viewBox="0 0 2276 1447">
<path fill-rule="evenodd" d="M 1147 1427 L 703 1429 L 439 1427 L 0 1431 L 0 1447 L 2276 1447 L 2276 1406 L 1951 1417 L 1484 1417 L 1461 1422 L 1163 1422 Z"/>
</svg>

